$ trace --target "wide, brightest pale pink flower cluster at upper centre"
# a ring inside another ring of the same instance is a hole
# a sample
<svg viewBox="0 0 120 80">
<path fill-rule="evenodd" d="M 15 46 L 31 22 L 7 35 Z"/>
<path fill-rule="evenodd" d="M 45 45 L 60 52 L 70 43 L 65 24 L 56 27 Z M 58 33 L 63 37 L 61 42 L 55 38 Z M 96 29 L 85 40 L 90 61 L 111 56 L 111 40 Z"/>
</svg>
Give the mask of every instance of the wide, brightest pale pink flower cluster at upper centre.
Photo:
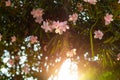
<svg viewBox="0 0 120 80">
<path fill-rule="evenodd" d="M 62 34 L 66 29 L 69 29 L 69 26 L 67 25 L 67 21 L 43 21 L 41 28 L 44 29 L 45 32 L 52 32 L 55 30 L 55 33 Z"/>
</svg>

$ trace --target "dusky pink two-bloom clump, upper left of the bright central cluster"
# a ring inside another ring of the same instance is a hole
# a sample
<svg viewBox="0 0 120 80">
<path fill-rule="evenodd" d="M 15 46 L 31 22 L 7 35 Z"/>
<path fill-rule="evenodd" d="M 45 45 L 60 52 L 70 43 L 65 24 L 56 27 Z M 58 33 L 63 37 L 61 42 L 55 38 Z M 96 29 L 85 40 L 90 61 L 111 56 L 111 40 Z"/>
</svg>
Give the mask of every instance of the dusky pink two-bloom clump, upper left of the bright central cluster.
<svg viewBox="0 0 120 80">
<path fill-rule="evenodd" d="M 33 18 L 35 18 L 36 23 L 41 23 L 43 21 L 42 15 L 43 15 L 43 9 L 38 8 L 38 9 L 33 9 L 31 11 L 31 15 L 33 15 Z"/>
</svg>

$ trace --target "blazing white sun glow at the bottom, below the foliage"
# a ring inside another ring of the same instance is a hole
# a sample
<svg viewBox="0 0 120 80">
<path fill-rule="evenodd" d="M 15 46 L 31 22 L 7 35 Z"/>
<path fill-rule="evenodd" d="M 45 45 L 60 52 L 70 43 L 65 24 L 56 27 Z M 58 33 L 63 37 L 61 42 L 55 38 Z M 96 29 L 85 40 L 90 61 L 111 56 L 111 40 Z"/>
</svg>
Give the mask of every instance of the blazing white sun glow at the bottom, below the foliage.
<svg viewBox="0 0 120 80">
<path fill-rule="evenodd" d="M 50 76 L 48 80 L 78 80 L 78 66 L 70 58 L 66 59 L 60 67 L 57 76 Z"/>
</svg>

